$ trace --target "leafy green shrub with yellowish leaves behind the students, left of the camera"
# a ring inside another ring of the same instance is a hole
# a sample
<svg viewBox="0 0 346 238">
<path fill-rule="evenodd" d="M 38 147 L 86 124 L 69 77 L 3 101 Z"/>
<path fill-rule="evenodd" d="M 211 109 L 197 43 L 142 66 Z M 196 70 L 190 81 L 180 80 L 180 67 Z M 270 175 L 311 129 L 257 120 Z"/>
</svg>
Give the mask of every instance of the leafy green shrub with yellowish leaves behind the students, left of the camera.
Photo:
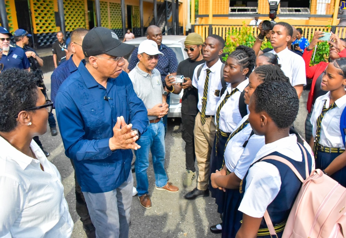
<svg viewBox="0 0 346 238">
<path fill-rule="evenodd" d="M 245 45 L 252 47 L 255 41 L 256 37 L 254 36 L 254 28 L 247 26 L 245 21 L 243 21 L 243 26 L 240 27 L 240 30 L 234 28 L 233 30 L 228 31 L 224 48 L 225 57 L 222 57 L 222 60 L 226 61 L 229 53 L 233 52 L 237 46 Z M 268 47 L 272 48 L 270 42 L 267 42 L 265 39 L 261 49 Z"/>
</svg>

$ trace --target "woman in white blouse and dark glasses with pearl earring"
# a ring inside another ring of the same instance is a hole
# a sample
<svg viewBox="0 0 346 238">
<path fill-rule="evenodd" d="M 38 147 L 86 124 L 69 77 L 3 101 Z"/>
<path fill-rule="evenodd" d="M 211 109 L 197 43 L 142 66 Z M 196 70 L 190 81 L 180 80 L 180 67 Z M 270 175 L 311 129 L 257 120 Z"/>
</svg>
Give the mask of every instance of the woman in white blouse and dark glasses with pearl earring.
<svg viewBox="0 0 346 238">
<path fill-rule="evenodd" d="M 52 108 L 33 73 L 0 73 L 0 237 L 71 237 L 61 176 L 33 140 Z"/>
</svg>

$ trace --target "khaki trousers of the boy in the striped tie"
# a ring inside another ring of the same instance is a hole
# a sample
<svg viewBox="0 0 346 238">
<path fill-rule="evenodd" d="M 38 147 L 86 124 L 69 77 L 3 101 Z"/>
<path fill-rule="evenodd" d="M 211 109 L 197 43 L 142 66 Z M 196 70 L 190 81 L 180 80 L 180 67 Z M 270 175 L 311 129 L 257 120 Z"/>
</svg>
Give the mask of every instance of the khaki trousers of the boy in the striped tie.
<svg viewBox="0 0 346 238">
<path fill-rule="evenodd" d="M 195 119 L 193 134 L 195 154 L 199 170 L 197 178 L 197 189 L 199 190 L 208 189 L 210 155 L 216 134 L 214 119 L 214 117 L 207 117 L 206 123 L 202 125 L 200 112 L 198 112 Z"/>
</svg>

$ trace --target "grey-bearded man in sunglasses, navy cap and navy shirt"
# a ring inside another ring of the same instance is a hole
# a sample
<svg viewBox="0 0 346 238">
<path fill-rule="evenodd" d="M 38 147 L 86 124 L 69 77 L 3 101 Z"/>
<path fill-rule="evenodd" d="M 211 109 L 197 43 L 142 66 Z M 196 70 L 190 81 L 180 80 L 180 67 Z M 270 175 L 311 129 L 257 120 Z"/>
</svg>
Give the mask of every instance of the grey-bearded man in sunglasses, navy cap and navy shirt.
<svg viewBox="0 0 346 238">
<path fill-rule="evenodd" d="M 0 27 L 0 48 L 2 48 L 2 58 L 0 64 L 3 64 L 3 70 L 8 68 L 19 68 L 27 70 L 30 67 L 28 57 L 23 49 L 10 46 L 12 34 L 6 28 Z"/>
</svg>

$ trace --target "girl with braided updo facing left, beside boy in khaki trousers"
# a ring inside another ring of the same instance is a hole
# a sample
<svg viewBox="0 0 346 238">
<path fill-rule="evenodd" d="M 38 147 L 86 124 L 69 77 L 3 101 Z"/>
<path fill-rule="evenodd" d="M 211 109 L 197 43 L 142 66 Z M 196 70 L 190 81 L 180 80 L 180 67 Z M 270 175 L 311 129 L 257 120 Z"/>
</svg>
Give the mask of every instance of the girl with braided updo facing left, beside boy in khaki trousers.
<svg viewBox="0 0 346 238">
<path fill-rule="evenodd" d="M 248 85 L 248 77 L 255 68 L 256 55 L 252 48 L 240 45 L 230 53 L 224 68 L 224 80 L 229 83 L 215 108 L 216 135 L 210 160 L 210 172 L 213 173 L 222 166 L 225 143 L 239 121 L 247 115 L 244 103 L 244 89 Z M 242 103 L 242 102 L 243 103 Z M 240 108 L 240 105 L 244 105 Z M 211 196 L 216 198 L 218 212 L 223 212 L 224 192 L 210 186 Z M 218 227 L 219 228 L 219 227 Z M 220 233 L 214 226 L 212 232 Z"/>
</svg>

